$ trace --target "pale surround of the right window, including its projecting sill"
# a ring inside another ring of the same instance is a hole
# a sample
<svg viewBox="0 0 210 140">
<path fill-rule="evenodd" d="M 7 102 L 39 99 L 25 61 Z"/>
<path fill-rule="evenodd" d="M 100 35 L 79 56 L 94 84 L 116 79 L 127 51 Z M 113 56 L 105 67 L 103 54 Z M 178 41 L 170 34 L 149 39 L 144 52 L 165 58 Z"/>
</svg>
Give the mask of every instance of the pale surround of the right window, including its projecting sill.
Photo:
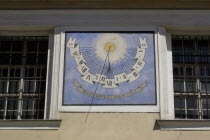
<svg viewBox="0 0 210 140">
<path fill-rule="evenodd" d="M 198 119 L 176 119 L 174 114 L 174 89 L 173 89 L 173 60 L 172 60 L 172 35 L 210 35 L 210 28 L 198 28 L 197 30 L 192 27 L 182 27 L 182 26 L 168 26 L 162 29 L 163 37 L 159 39 L 159 45 L 162 44 L 163 51 L 160 56 L 160 61 L 165 59 L 165 70 L 160 70 L 165 73 L 167 79 L 165 85 L 162 88 L 167 90 L 162 90 L 160 92 L 160 119 L 156 120 L 159 125 L 160 130 L 210 130 L 210 120 L 198 120 Z M 161 49 L 160 49 L 161 51 Z M 163 66 L 164 67 L 164 66 Z M 162 77 L 162 78 L 164 78 Z M 161 80 L 163 81 L 163 80 Z M 161 88 L 161 87 L 160 87 Z"/>
</svg>

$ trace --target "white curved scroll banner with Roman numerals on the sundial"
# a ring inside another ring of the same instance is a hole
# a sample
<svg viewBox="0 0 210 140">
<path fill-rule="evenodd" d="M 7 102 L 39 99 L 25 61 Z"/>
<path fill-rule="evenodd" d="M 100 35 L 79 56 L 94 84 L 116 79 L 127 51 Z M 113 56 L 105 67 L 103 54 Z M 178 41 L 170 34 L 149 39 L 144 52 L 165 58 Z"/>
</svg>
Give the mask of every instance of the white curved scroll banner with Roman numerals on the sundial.
<svg viewBox="0 0 210 140">
<path fill-rule="evenodd" d="M 129 74 L 121 73 L 118 75 L 114 75 L 114 79 L 107 79 L 106 75 L 103 74 L 96 74 L 93 75 L 89 73 L 90 68 L 86 65 L 86 61 L 80 53 L 80 46 L 76 44 L 76 38 L 72 39 L 70 37 L 67 47 L 70 48 L 70 55 L 74 57 L 75 62 L 77 63 L 77 70 L 82 74 L 81 78 L 86 81 L 87 83 L 94 84 L 98 82 L 102 84 L 104 88 L 117 88 L 119 87 L 120 83 L 128 82 L 131 83 L 140 77 L 139 72 L 143 69 L 145 62 L 144 56 L 145 51 L 148 48 L 146 38 L 139 38 L 140 45 L 138 45 L 135 61 L 136 63 L 131 68 L 131 72 Z"/>
</svg>

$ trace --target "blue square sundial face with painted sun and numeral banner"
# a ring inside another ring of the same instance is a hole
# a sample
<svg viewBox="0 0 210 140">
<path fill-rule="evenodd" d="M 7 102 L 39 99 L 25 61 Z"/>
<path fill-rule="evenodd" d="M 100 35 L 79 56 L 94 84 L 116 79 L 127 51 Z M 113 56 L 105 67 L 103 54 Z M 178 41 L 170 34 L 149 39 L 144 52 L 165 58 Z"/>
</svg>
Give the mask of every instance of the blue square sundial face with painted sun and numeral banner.
<svg viewBox="0 0 210 140">
<path fill-rule="evenodd" d="M 156 104 L 153 36 L 66 33 L 63 104 Z"/>
</svg>

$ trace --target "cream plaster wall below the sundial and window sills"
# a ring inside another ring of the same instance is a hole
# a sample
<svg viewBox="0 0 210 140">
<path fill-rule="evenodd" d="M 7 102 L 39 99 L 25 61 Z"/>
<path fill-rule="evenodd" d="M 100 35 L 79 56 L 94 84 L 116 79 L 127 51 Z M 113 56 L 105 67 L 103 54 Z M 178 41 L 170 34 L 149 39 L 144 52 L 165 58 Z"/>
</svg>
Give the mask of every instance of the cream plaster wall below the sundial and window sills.
<svg viewBox="0 0 210 140">
<path fill-rule="evenodd" d="M 209 131 L 153 130 L 158 113 L 61 113 L 59 130 L 0 130 L 0 140 L 209 140 Z"/>
</svg>

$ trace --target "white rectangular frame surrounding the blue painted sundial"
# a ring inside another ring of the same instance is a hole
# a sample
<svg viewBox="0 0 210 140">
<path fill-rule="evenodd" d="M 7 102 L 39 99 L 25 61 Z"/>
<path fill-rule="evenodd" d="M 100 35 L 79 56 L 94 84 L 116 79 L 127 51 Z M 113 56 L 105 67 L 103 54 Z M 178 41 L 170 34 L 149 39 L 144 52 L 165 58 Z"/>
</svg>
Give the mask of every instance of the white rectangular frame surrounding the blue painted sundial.
<svg viewBox="0 0 210 140">
<path fill-rule="evenodd" d="M 106 105 L 106 106 L 63 106 L 63 78 L 64 78 L 64 53 L 66 31 L 153 31 L 155 38 L 155 63 L 156 63 L 156 105 Z M 59 76 L 54 80 L 54 91 L 59 93 L 60 112 L 159 112 L 159 51 L 158 51 L 158 27 L 157 26 L 64 26 L 55 29 L 55 51 L 57 52 L 57 72 Z M 59 65 L 58 65 L 59 64 Z M 59 82 L 58 82 L 59 81 Z"/>
</svg>

